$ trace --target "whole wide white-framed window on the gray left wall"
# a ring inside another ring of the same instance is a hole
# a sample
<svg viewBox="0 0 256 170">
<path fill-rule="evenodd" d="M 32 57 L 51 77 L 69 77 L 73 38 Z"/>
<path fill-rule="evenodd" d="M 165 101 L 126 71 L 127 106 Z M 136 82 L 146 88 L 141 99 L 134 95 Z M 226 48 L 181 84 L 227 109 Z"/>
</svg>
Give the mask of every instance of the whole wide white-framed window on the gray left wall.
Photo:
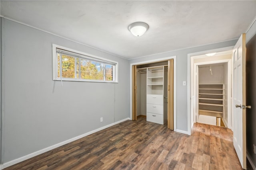
<svg viewBox="0 0 256 170">
<path fill-rule="evenodd" d="M 118 63 L 52 45 L 53 80 L 118 82 Z"/>
</svg>

